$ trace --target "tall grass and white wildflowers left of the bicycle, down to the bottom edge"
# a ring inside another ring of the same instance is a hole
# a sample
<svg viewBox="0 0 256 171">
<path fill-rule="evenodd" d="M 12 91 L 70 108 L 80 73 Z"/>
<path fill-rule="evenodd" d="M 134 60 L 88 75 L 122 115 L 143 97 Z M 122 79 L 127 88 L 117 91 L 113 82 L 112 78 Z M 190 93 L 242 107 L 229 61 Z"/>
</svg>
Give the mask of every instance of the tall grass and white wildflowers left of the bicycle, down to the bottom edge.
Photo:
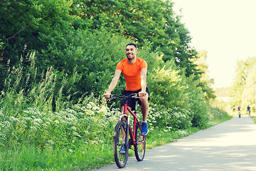
<svg viewBox="0 0 256 171">
<path fill-rule="evenodd" d="M 53 68 L 38 75 L 34 56 L 29 54 L 27 68 L 10 68 L 1 90 L 0 170 L 88 170 L 95 160 L 106 163 L 111 158 L 104 154 L 112 148 L 112 111 L 92 96 L 71 105 L 63 97 L 66 78 L 55 92 Z M 35 82 L 38 76 L 41 80 Z"/>
</svg>

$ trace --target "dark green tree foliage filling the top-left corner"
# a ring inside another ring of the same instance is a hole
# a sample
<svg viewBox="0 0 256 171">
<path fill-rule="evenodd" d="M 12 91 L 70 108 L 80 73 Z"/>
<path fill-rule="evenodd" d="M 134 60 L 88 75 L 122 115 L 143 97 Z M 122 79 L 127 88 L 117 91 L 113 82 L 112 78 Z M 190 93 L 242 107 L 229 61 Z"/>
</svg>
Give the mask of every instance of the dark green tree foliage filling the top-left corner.
<svg viewBox="0 0 256 171">
<path fill-rule="evenodd" d="M 0 6 L 1 66 L 16 66 L 18 54 L 26 46 L 28 52 L 47 49 L 48 44 L 65 44 L 65 34 L 72 29 L 75 16 L 69 15 L 71 1 L 28 0 L 4 1 Z M 45 71 L 50 56 L 39 56 L 38 72 Z M 1 82 L 1 86 L 3 82 Z M 1 89 L 1 88 L 0 88 Z"/>
</svg>

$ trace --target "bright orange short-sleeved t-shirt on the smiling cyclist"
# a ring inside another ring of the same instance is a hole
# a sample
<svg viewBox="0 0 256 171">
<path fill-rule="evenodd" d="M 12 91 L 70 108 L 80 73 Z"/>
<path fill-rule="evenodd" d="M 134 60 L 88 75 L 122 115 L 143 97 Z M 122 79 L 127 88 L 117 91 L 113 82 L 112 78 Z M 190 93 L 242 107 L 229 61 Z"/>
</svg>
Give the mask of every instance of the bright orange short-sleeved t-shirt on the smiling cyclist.
<svg viewBox="0 0 256 171">
<path fill-rule="evenodd" d="M 117 63 L 117 70 L 122 71 L 125 78 L 127 85 L 125 90 L 134 91 L 142 88 L 140 79 L 142 68 L 147 68 L 146 61 L 142 58 L 136 58 L 136 62 L 134 64 L 129 64 L 127 58 Z"/>
</svg>

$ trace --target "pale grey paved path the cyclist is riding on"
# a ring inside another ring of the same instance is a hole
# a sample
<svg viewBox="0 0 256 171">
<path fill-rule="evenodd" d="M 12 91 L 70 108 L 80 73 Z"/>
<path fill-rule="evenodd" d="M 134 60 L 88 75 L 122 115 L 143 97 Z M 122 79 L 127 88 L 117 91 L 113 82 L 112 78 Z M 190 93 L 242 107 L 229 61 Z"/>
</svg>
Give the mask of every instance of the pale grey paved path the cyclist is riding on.
<svg viewBox="0 0 256 171">
<path fill-rule="evenodd" d="M 115 164 L 100 170 L 120 171 Z M 129 157 L 122 170 L 256 170 L 256 125 L 247 116 L 235 116 L 177 142 L 147 150 L 142 162 Z"/>
</svg>

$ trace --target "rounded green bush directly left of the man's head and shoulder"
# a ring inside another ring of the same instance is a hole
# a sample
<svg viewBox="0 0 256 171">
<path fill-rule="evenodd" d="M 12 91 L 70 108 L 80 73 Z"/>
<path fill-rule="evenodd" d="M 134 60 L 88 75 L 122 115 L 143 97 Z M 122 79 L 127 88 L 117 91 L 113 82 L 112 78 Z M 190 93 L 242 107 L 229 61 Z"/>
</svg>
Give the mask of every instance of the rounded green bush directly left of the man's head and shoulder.
<svg viewBox="0 0 256 171">
<path fill-rule="evenodd" d="M 60 50 L 58 45 L 51 45 L 50 51 L 43 51 L 43 56 L 55 59 L 48 66 L 61 71 L 59 74 L 71 76 L 76 69 L 78 80 L 73 92 L 77 91 L 76 98 L 79 98 L 83 93 L 97 95 L 107 89 L 117 62 L 124 58 L 126 43 L 127 39 L 113 36 L 104 28 L 93 33 L 76 31 L 67 34 L 65 48 Z"/>
</svg>

